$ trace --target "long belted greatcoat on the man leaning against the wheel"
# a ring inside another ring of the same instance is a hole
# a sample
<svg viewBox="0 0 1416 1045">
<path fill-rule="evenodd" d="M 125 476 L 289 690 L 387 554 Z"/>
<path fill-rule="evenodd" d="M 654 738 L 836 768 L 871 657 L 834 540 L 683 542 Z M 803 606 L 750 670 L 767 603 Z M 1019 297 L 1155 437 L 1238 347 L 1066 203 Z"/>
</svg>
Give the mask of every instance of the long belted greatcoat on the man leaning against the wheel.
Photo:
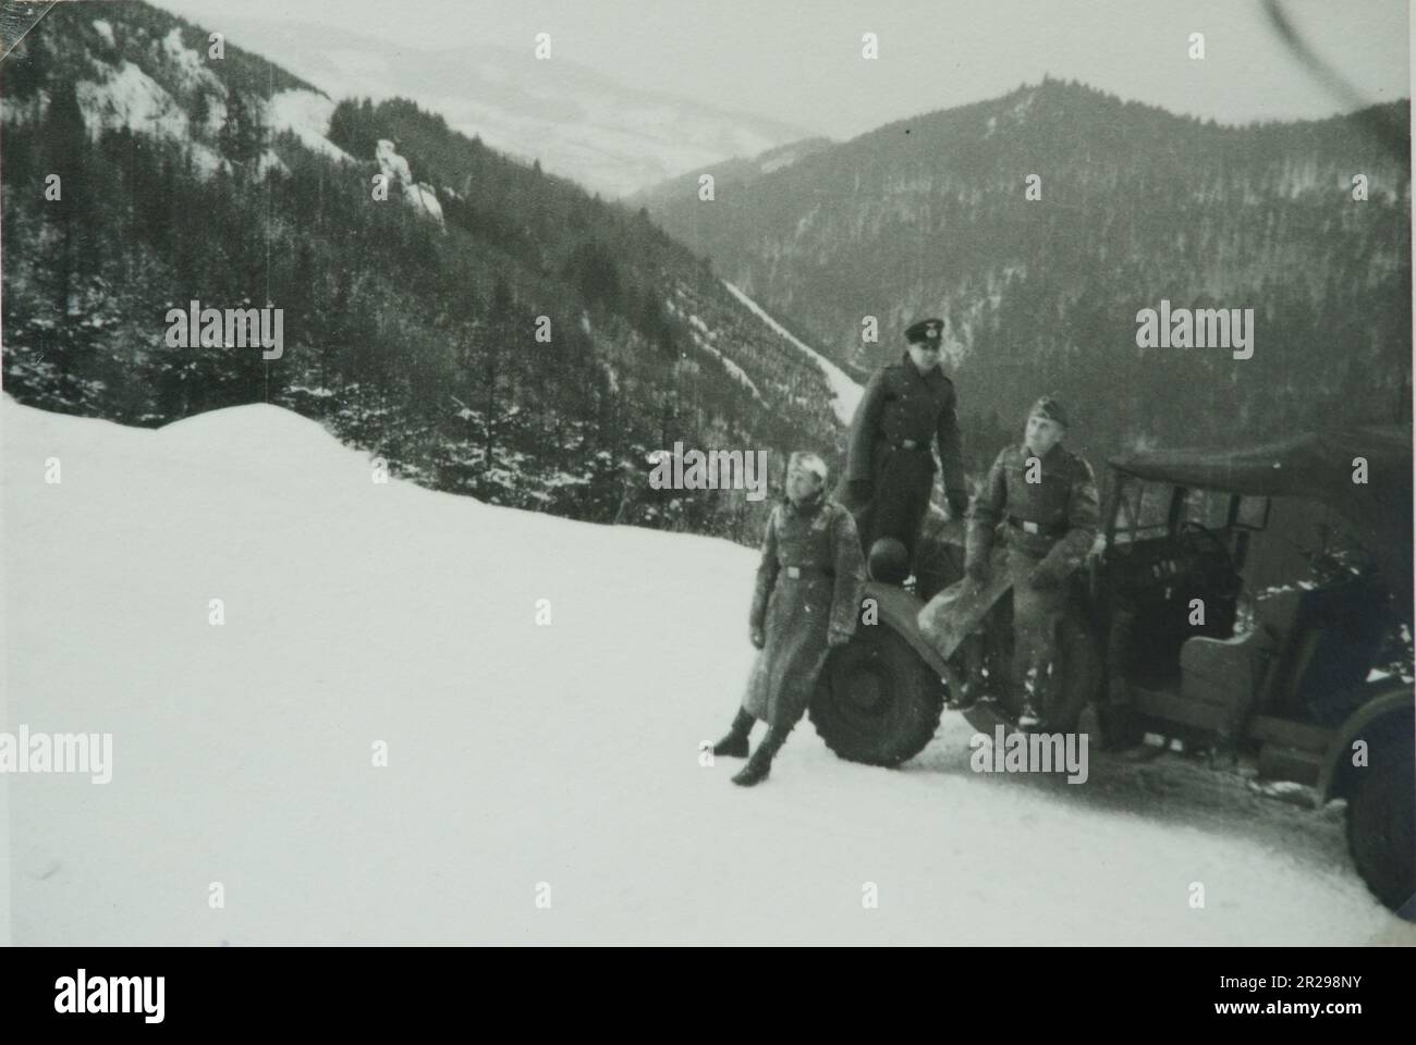
<svg viewBox="0 0 1416 1045">
<path fill-rule="evenodd" d="M 749 623 L 766 634 L 742 707 L 766 722 L 790 724 L 811 702 L 830 633 L 854 634 L 865 593 L 855 520 L 826 497 L 772 510 Z"/>
</svg>

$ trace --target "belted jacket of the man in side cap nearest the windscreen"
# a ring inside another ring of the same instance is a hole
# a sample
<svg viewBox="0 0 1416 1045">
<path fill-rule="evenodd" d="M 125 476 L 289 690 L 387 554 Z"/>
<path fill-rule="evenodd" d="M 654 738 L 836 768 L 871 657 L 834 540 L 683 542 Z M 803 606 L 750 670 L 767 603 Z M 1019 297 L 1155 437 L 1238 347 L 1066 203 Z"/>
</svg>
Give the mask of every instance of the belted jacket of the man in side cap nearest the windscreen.
<svg viewBox="0 0 1416 1045">
<path fill-rule="evenodd" d="M 1001 522 L 1010 548 L 1061 581 L 1086 556 L 1100 525 L 1096 477 L 1082 457 L 1055 445 L 1041 459 L 1041 481 L 1027 481 L 1032 450 L 1007 446 L 988 469 L 969 513 L 969 559 L 987 559 Z M 1010 520 L 1028 525 L 1012 525 Z M 1035 531 L 1035 532 L 1034 532 Z"/>
</svg>

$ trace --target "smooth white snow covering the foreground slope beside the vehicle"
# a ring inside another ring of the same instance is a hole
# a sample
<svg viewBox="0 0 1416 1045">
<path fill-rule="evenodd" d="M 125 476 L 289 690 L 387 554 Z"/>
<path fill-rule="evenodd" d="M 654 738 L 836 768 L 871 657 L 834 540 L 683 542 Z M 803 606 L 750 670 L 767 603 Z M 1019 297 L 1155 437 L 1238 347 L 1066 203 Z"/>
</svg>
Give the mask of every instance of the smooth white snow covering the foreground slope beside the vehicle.
<svg viewBox="0 0 1416 1045">
<path fill-rule="evenodd" d="M 275 406 L 6 398 L 0 432 L 4 729 L 113 735 L 109 784 L 7 780 L 14 943 L 1412 939 L 1335 810 L 1182 765 L 980 776 L 949 715 L 902 770 L 803 725 L 731 786 L 698 762 L 752 657 L 726 541 L 378 484 Z"/>
</svg>

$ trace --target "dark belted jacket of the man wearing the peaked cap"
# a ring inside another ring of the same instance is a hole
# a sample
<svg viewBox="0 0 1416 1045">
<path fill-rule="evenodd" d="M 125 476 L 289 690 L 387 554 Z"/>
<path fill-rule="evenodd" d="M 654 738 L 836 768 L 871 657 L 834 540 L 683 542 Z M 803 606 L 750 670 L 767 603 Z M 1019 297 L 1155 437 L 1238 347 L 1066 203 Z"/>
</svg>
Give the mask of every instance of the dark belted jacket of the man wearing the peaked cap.
<svg viewBox="0 0 1416 1045">
<path fill-rule="evenodd" d="M 905 439 L 922 447 L 936 440 L 944 470 L 944 491 L 952 498 L 969 496 L 954 384 L 939 367 L 920 374 L 908 353 L 901 362 L 877 371 L 865 387 L 851 421 L 845 481 L 874 479 L 882 450 Z"/>
</svg>

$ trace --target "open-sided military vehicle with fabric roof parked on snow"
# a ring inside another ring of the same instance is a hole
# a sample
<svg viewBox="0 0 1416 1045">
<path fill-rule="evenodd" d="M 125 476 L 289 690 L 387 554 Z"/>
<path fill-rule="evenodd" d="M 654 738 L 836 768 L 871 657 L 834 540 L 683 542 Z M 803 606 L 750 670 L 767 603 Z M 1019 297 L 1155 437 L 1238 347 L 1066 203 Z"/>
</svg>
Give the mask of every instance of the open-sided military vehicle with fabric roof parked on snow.
<svg viewBox="0 0 1416 1045">
<path fill-rule="evenodd" d="M 1058 629 L 1048 728 L 1158 735 L 1256 780 L 1306 784 L 1317 804 L 1345 800 L 1358 872 L 1416 918 L 1416 714 L 1412 683 L 1389 668 L 1412 624 L 1410 433 L 1151 450 L 1110 460 L 1104 480 L 1103 530 Z M 1276 501 L 1332 517 L 1358 558 L 1250 590 Z M 986 733 L 1015 726 L 1010 598 L 961 566 L 961 524 L 936 514 L 913 578 L 868 583 L 865 626 L 833 651 L 810 708 L 838 756 L 899 765 L 946 707 L 969 705 Z"/>
</svg>

